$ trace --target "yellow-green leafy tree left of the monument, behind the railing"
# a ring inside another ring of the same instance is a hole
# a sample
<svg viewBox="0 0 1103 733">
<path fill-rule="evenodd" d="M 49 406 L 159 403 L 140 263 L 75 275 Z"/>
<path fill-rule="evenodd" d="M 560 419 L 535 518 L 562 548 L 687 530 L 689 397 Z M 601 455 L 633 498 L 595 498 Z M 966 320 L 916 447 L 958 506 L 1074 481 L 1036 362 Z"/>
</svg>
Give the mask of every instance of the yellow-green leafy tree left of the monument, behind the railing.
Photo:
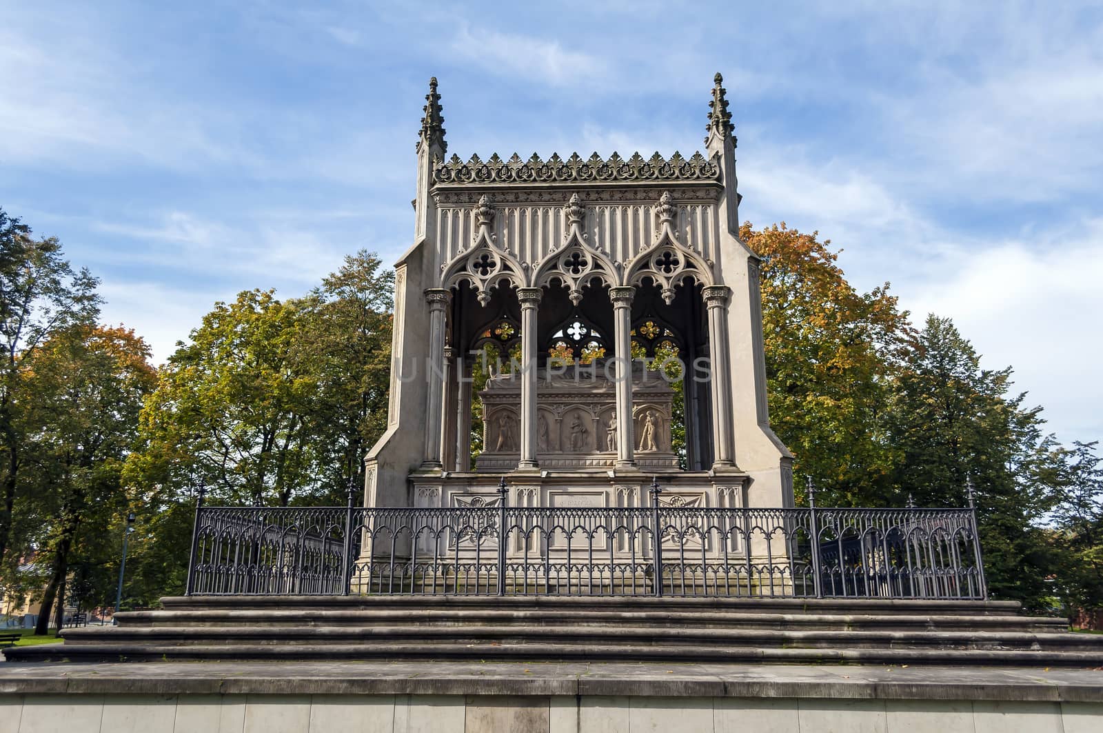
<svg viewBox="0 0 1103 733">
<path fill-rule="evenodd" d="M 128 476 L 170 501 L 199 480 L 232 502 L 287 506 L 317 489 L 308 418 L 319 384 L 298 347 L 306 321 L 301 302 L 270 290 L 215 304 L 162 368 Z"/>
</svg>

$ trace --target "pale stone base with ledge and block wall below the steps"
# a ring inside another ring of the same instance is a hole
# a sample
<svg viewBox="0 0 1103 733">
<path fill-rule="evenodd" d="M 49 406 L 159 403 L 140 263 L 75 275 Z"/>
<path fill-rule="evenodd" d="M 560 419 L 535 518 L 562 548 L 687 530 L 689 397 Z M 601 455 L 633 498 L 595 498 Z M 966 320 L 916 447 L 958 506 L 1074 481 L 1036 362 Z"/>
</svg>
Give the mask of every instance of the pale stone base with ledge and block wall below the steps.
<svg viewBox="0 0 1103 733">
<path fill-rule="evenodd" d="M 1094 733 L 1101 721 L 1103 671 L 0 665 L 3 733 Z"/>
</svg>

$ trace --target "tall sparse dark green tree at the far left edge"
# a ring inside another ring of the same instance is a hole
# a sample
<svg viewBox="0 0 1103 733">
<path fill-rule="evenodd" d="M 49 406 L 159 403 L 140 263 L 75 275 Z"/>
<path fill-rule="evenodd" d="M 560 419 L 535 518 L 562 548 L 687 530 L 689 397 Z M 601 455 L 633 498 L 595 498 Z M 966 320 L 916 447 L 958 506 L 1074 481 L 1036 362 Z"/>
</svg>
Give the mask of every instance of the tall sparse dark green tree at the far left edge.
<svg viewBox="0 0 1103 733">
<path fill-rule="evenodd" d="M 11 543 L 23 464 L 17 423 L 29 402 L 24 364 L 52 334 L 95 322 L 97 284 L 88 270 L 73 270 L 56 237 L 33 238 L 30 226 L 0 209 L 0 564 Z"/>
</svg>

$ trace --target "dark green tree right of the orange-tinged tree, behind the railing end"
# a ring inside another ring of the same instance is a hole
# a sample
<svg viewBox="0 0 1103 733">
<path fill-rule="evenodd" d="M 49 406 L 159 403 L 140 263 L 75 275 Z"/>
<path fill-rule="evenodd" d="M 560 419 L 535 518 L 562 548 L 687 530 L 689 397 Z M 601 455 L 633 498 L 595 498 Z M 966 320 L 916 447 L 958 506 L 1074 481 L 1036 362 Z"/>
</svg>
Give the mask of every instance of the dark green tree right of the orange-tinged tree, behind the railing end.
<svg viewBox="0 0 1103 733">
<path fill-rule="evenodd" d="M 1043 605 L 1052 559 L 1038 522 L 1052 508 L 1062 452 L 1040 407 L 1009 394 L 1010 368 L 985 370 L 950 319 L 929 316 L 897 381 L 895 480 L 919 506 L 964 507 L 976 491 L 993 597 Z"/>
</svg>

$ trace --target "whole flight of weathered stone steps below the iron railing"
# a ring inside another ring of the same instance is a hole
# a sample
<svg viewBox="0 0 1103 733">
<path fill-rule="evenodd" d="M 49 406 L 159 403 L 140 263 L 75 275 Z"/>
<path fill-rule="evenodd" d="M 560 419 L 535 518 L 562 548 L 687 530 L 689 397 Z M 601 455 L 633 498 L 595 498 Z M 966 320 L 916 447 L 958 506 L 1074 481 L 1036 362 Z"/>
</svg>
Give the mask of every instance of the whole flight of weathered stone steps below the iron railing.
<svg viewBox="0 0 1103 733">
<path fill-rule="evenodd" d="M 165 598 L 13 660 L 513 659 L 1103 667 L 1018 604 L 593 597 Z"/>
</svg>

